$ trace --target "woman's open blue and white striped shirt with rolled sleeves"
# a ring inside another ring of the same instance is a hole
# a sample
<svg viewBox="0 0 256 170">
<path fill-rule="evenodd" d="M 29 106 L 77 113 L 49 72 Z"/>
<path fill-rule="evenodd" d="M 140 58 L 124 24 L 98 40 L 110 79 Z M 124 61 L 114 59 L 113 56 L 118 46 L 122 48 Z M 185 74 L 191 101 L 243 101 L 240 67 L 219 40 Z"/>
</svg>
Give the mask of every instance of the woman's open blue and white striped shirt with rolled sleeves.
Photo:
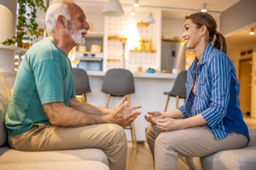
<svg viewBox="0 0 256 170">
<path fill-rule="evenodd" d="M 241 133 L 249 140 L 248 128 L 239 109 L 239 83 L 229 57 L 209 43 L 198 65 L 197 58 L 187 73 L 186 103 L 177 109 L 184 118 L 201 114 L 214 136 L 224 139 L 229 133 Z M 195 96 L 191 89 L 195 80 Z"/>
</svg>

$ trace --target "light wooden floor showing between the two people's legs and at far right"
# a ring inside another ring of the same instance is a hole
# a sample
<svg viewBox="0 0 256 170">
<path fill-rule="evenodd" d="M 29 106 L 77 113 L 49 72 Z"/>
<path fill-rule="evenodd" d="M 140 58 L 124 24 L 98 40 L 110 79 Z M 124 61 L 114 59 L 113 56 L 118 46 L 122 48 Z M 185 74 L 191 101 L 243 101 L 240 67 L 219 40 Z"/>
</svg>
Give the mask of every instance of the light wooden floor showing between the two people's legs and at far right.
<svg viewBox="0 0 256 170">
<path fill-rule="evenodd" d="M 256 119 L 244 116 L 248 128 L 256 128 Z M 131 142 L 128 142 L 126 170 L 154 170 L 151 152 L 147 142 L 138 143 L 138 152 Z"/>
</svg>

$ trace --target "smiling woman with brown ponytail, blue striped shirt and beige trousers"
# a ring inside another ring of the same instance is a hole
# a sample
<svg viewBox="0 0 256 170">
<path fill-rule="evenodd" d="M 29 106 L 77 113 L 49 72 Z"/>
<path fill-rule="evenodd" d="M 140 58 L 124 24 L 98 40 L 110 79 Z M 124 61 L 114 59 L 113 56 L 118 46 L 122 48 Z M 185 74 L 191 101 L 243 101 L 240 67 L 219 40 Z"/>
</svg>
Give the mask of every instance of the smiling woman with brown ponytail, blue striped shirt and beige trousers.
<svg viewBox="0 0 256 170">
<path fill-rule="evenodd" d="M 196 56 L 187 73 L 186 103 L 145 116 L 151 123 L 146 138 L 156 170 L 177 169 L 180 156 L 208 156 L 249 142 L 239 109 L 236 71 L 225 54 L 225 39 L 216 31 L 216 21 L 207 13 L 185 19 L 183 39 Z"/>
</svg>

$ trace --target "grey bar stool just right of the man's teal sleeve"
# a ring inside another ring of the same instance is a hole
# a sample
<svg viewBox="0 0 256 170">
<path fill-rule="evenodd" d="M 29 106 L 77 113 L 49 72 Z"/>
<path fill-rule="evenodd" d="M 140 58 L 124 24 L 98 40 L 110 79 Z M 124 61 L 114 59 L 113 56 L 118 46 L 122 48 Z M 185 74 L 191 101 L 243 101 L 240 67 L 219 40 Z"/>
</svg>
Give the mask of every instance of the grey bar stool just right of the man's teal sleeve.
<svg viewBox="0 0 256 170">
<path fill-rule="evenodd" d="M 87 103 L 86 93 L 90 91 L 90 82 L 86 71 L 79 68 L 73 68 L 73 87 L 77 95 L 82 94 L 84 102 Z"/>
</svg>

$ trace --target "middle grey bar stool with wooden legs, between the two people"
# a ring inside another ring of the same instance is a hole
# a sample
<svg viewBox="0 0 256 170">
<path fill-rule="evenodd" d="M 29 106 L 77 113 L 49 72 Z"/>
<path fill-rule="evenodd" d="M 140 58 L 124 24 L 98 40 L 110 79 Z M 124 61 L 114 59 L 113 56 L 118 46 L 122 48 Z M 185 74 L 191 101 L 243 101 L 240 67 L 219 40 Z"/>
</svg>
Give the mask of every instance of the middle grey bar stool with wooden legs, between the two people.
<svg viewBox="0 0 256 170">
<path fill-rule="evenodd" d="M 127 101 L 128 101 L 128 107 L 131 107 L 129 94 L 135 93 L 134 78 L 131 74 L 131 71 L 128 71 L 125 69 L 108 70 L 103 80 L 102 92 L 108 94 L 106 109 L 108 109 L 110 96 L 126 95 Z M 128 127 L 128 128 L 125 127 L 125 129 L 131 129 L 131 140 L 132 140 L 132 143 L 135 144 L 136 150 L 137 150 L 137 139 L 136 139 L 134 123 L 131 122 L 131 127 Z"/>
</svg>

